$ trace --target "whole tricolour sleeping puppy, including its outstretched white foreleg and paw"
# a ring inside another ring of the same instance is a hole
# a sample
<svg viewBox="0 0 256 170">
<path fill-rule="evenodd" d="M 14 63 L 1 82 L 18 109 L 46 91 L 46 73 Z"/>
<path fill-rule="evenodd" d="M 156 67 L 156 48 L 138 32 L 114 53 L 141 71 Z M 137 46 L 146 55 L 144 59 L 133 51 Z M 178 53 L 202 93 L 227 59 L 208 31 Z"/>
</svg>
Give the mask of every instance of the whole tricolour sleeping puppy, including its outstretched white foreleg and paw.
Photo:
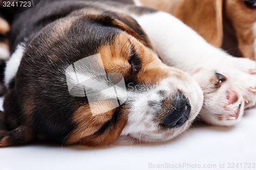
<svg viewBox="0 0 256 170">
<path fill-rule="evenodd" d="M 256 102 L 256 63 L 138 5 L 46 0 L 14 16 L 0 147 L 161 142 L 198 115 L 239 122 Z"/>
</svg>

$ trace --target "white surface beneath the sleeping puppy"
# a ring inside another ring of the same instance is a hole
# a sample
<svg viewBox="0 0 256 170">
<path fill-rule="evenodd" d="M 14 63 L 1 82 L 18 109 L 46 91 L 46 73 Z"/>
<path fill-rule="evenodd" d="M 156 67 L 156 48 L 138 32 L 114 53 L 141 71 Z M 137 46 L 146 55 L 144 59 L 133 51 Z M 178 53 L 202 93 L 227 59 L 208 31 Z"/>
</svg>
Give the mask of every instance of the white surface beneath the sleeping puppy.
<svg viewBox="0 0 256 170">
<path fill-rule="evenodd" d="M 237 126 L 196 123 L 180 137 L 159 145 L 94 149 L 34 143 L 0 148 L 0 169 L 256 169 L 244 168 L 245 163 L 256 163 L 255 131 L 256 109 L 251 109 Z M 239 167 L 228 168 L 229 163 L 239 163 Z M 165 167 L 157 168 L 161 164 Z M 217 168 L 203 167 L 208 164 Z"/>
</svg>

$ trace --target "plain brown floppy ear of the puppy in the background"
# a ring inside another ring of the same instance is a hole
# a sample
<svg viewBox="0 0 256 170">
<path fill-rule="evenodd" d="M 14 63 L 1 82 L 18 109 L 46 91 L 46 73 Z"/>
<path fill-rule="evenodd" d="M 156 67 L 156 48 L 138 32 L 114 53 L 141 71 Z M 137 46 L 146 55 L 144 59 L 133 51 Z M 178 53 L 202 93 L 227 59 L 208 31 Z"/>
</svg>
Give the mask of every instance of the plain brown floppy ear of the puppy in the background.
<svg viewBox="0 0 256 170">
<path fill-rule="evenodd" d="M 183 0 L 175 16 L 198 32 L 208 43 L 221 47 L 222 11 L 223 0 Z"/>
</svg>

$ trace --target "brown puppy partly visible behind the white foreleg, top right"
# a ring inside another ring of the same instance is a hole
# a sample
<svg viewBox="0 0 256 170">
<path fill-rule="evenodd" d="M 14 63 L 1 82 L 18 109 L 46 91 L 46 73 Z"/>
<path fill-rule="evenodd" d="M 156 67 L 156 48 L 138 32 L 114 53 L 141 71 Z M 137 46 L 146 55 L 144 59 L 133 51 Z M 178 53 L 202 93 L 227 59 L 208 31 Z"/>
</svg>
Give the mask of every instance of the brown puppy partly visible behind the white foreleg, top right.
<svg viewBox="0 0 256 170">
<path fill-rule="evenodd" d="M 256 59 L 255 0 L 138 0 L 173 14 L 204 39 L 237 57 Z"/>
</svg>

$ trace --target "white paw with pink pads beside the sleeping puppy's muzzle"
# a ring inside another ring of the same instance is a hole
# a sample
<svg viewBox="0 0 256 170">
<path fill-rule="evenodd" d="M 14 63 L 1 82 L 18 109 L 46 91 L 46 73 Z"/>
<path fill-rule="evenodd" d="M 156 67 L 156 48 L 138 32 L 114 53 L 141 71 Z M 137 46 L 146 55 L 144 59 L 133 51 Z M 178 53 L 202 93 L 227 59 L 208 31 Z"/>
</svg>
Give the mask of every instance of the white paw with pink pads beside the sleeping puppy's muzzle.
<svg viewBox="0 0 256 170">
<path fill-rule="evenodd" d="M 212 125 L 233 126 L 241 120 L 244 109 L 255 105 L 256 62 L 232 58 L 220 65 L 192 74 L 204 92 L 200 118 Z"/>
</svg>

